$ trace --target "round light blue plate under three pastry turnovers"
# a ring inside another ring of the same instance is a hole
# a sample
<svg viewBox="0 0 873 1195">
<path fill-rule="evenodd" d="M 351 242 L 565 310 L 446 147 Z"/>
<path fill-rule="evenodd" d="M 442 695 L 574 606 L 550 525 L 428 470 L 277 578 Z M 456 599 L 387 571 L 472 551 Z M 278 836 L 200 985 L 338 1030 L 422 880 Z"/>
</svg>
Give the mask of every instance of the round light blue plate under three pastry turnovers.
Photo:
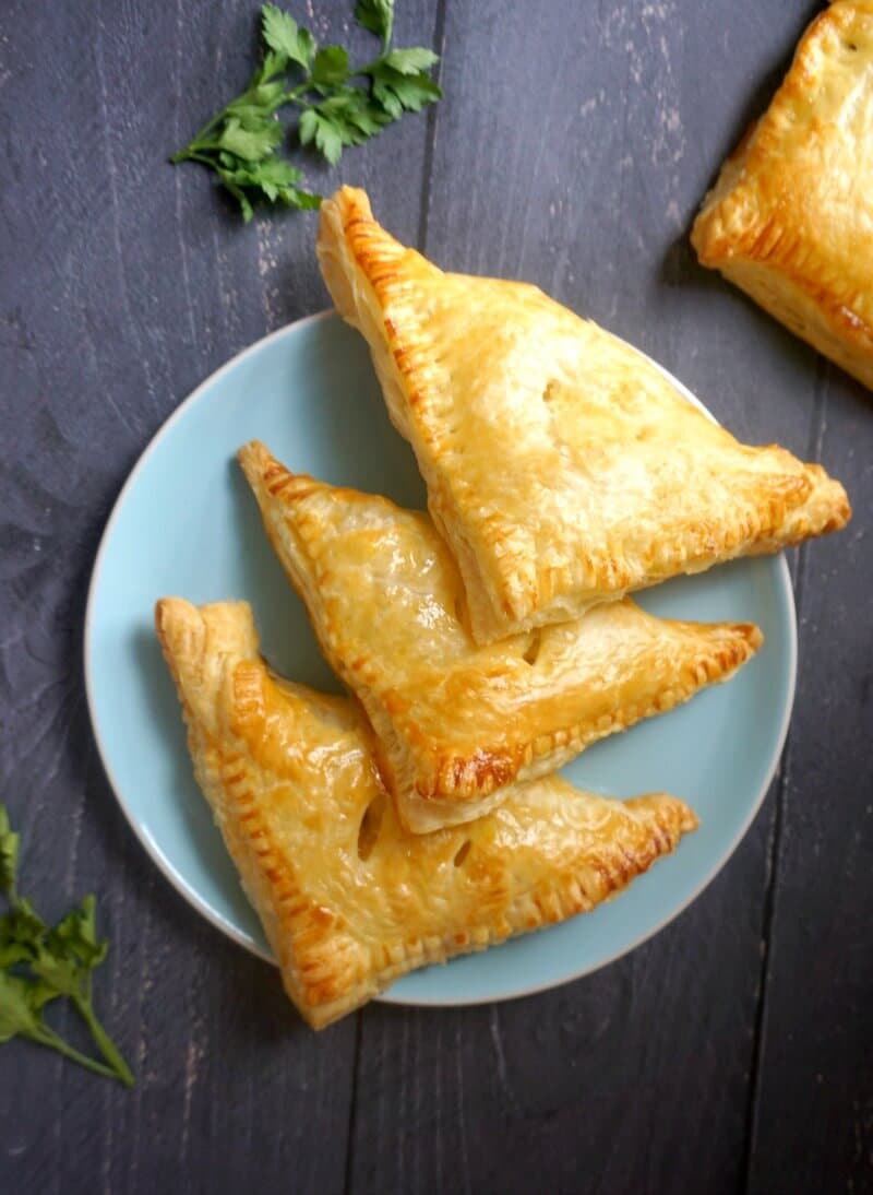
<svg viewBox="0 0 873 1195">
<path fill-rule="evenodd" d="M 103 762 L 143 846 L 204 917 L 270 957 L 191 774 L 153 631 L 158 598 L 245 598 L 271 663 L 294 680 L 338 691 L 234 460 L 253 437 L 293 470 L 424 505 L 412 453 L 388 422 L 361 337 L 333 314 L 293 324 L 203 382 L 134 468 L 94 565 L 85 668 Z M 728 685 L 596 744 L 564 774 L 621 797 L 675 792 L 697 811 L 700 829 L 595 913 L 408 975 L 383 999 L 473 1004 L 584 975 L 676 917 L 739 842 L 775 771 L 794 693 L 797 632 L 785 560 L 742 560 L 683 577 L 640 602 L 676 618 L 755 621 L 766 644 Z"/>
</svg>

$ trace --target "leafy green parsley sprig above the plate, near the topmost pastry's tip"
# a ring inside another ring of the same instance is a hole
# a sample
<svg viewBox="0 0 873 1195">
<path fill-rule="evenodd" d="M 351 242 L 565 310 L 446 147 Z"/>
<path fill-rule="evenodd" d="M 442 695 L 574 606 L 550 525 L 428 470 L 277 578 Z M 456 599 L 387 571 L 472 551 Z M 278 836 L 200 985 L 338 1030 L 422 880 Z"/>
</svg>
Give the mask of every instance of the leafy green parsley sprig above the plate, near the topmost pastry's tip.
<svg viewBox="0 0 873 1195">
<path fill-rule="evenodd" d="M 380 39 L 381 51 L 352 66 L 342 45 L 319 48 L 308 29 L 273 4 L 260 10 L 264 61 L 248 87 L 203 125 L 172 163 L 198 161 L 216 172 L 248 222 L 253 203 L 316 208 L 302 172 L 281 153 L 282 108 L 299 110 L 291 134 L 336 166 L 343 151 L 362 145 L 405 112 L 419 112 L 442 96 L 429 72 L 438 62 L 423 47 L 392 49 L 394 0 L 359 0 L 355 19 Z"/>
</svg>

